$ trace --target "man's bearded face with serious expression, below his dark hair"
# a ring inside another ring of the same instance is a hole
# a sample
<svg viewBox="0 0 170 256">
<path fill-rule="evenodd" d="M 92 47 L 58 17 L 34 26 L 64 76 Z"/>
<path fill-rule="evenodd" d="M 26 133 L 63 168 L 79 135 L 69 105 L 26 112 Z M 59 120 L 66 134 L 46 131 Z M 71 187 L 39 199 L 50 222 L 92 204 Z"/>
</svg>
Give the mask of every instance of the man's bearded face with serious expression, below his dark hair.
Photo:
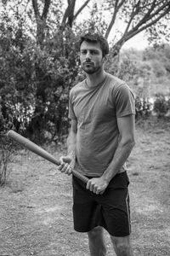
<svg viewBox="0 0 170 256">
<path fill-rule="evenodd" d="M 85 73 L 93 74 L 98 72 L 104 64 L 100 44 L 83 41 L 80 47 L 80 62 Z"/>
</svg>

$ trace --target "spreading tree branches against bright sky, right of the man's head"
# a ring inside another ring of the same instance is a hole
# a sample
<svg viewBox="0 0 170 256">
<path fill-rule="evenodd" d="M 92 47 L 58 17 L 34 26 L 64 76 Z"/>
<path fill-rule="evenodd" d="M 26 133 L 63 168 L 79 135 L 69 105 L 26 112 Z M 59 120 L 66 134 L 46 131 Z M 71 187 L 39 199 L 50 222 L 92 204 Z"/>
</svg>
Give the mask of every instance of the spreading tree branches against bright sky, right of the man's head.
<svg viewBox="0 0 170 256">
<path fill-rule="evenodd" d="M 170 19 L 170 1 L 169 0 L 116 0 L 105 1 L 103 7 L 110 9 L 112 13 L 111 21 L 108 24 L 108 29 L 105 33 L 105 38 L 108 38 L 111 29 L 116 25 L 117 16 L 125 21 L 124 30 L 121 38 L 113 45 L 115 55 L 117 55 L 122 48 L 122 45 L 130 38 L 133 38 L 139 32 L 150 32 L 158 36 L 156 33 L 156 25 L 160 28 L 161 34 L 166 33 L 165 19 Z M 163 20 L 164 19 L 164 20 Z M 163 28 L 163 29 L 161 29 Z"/>
</svg>

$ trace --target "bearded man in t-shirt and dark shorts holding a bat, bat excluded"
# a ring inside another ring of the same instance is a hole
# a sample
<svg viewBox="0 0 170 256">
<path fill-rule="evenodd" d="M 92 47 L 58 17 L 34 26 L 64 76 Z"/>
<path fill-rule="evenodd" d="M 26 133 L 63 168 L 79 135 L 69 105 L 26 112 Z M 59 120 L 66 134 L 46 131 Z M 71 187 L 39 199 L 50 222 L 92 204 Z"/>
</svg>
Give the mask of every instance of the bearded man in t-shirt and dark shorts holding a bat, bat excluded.
<svg viewBox="0 0 170 256">
<path fill-rule="evenodd" d="M 132 256 L 126 160 L 134 146 L 134 99 L 127 84 L 105 72 L 109 46 L 99 34 L 80 39 L 80 61 L 86 79 L 71 89 L 68 154 L 59 170 L 71 168 L 74 228 L 88 232 L 91 256 L 106 255 L 103 230 L 111 235 L 118 256 Z"/>
</svg>

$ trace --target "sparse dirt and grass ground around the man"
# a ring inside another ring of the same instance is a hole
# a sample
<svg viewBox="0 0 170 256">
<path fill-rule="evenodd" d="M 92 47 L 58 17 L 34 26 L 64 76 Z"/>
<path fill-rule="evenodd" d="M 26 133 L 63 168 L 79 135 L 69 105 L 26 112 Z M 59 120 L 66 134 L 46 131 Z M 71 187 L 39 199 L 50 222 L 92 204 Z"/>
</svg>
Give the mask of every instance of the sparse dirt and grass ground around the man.
<svg viewBox="0 0 170 256">
<path fill-rule="evenodd" d="M 51 152 L 57 158 L 61 154 L 59 149 Z M 137 125 L 127 166 L 134 253 L 168 256 L 170 124 Z M 86 234 L 73 230 L 71 177 L 24 149 L 8 170 L 8 181 L 0 188 L 0 256 L 88 256 Z M 115 255 L 106 232 L 105 241 L 107 255 Z"/>
</svg>

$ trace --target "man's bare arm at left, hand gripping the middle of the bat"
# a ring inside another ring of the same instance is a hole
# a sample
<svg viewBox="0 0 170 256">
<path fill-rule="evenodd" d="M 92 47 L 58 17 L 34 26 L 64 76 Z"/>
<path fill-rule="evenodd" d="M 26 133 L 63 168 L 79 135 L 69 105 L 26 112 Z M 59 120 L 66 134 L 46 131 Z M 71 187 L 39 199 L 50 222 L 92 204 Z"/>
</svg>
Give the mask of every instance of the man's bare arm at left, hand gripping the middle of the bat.
<svg viewBox="0 0 170 256">
<path fill-rule="evenodd" d="M 58 167 L 60 172 L 71 174 L 71 168 L 74 168 L 76 160 L 76 143 L 77 143 L 77 120 L 71 119 L 71 131 L 67 137 L 67 155 L 60 157 L 60 166 Z"/>
</svg>

